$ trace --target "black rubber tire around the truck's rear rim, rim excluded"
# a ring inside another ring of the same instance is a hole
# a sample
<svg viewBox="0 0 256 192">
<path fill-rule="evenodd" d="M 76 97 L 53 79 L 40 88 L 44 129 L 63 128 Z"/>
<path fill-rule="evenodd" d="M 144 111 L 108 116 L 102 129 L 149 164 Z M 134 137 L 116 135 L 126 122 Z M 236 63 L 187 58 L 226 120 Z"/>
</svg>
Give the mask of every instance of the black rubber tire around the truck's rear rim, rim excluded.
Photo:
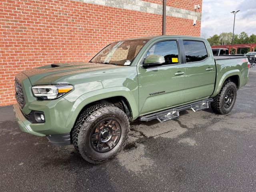
<svg viewBox="0 0 256 192">
<path fill-rule="evenodd" d="M 232 104 L 230 105 L 229 108 L 225 108 L 224 107 L 225 95 L 230 89 L 234 92 L 234 100 L 232 101 Z M 226 81 L 222 85 L 222 88 L 220 89 L 220 92 L 218 93 L 218 95 L 216 95 L 213 98 L 213 102 L 211 102 L 211 107 L 212 107 L 212 110 L 217 114 L 228 114 L 232 110 L 235 104 L 235 101 L 236 101 L 236 84 L 230 81 Z"/>
</svg>

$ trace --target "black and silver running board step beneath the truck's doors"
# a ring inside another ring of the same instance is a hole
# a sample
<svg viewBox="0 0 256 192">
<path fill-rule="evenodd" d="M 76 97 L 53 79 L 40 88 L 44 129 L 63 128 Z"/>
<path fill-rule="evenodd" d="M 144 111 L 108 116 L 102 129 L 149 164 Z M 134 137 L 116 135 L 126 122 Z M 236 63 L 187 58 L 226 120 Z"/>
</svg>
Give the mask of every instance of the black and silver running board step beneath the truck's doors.
<svg viewBox="0 0 256 192">
<path fill-rule="evenodd" d="M 194 102 L 191 104 L 186 104 L 184 106 L 176 107 L 173 109 L 168 109 L 160 112 L 156 112 L 153 114 L 149 114 L 146 116 L 142 116 L 140 118 L 140 121 L 150 121 L 153 119 L 157 119 L 160 122 L 165 122 L 174 118 L 178 118 L 180 116 L 179 112 L 184 111 L 187 109 L 192 109 L 194 112 L 203 110 L 203 109 L 208 109 L 209 108 L 209 103 L 212 102 L 213 99 L 209 98 L 206 100 Z"/>
</svg>

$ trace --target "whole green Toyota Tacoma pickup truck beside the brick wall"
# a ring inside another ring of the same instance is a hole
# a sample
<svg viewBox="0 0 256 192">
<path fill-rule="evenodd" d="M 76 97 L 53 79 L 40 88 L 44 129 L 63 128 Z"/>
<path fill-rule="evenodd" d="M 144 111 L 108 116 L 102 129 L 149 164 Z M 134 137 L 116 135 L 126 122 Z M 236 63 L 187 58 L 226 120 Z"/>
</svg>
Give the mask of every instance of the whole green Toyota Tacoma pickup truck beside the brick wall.
<svg viewBox="0 0 256 192">
<path fill-rule="evenodd" d="M 130 121 L 165 122 L 209 105 L 229 113 L 249 66 L 246 57 L 214 57 L 203 38 L 123 40 L 89 62 L 20 72 L 14 112 L 22 131 L 55 145 L 74 144 L 85 160 L 100 163 L 124 147 Z"/>
</svg>

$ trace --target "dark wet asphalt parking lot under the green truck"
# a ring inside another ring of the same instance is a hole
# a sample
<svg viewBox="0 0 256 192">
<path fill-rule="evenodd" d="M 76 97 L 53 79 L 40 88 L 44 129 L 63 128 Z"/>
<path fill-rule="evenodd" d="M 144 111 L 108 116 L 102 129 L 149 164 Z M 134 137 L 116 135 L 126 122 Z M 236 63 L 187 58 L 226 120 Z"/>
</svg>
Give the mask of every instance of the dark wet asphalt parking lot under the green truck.
<svg viewBox="0 0 256 192">
<path fill-rule="evenodd" d="M 133 122 L 125 149 L 89 164 L 73 146 L 20 132 L 0 108 L 0 191 L 256 191 L 256 68 L 230 114 Z"/>
</svg>

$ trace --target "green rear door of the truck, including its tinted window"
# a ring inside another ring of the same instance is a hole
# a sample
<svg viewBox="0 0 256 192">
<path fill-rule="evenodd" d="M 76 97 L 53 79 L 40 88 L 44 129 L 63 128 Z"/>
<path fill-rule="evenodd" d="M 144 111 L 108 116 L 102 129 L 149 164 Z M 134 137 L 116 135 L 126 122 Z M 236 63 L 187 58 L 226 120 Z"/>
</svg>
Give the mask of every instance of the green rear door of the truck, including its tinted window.
<svg viewBox="0 0 256 192">
<path fill-rule="evenodd" d="M 204 41 L 183 39 L 185 54 L 184 102 L 209 97 L 214 91 L 216 66 Z"/>
</svg>

